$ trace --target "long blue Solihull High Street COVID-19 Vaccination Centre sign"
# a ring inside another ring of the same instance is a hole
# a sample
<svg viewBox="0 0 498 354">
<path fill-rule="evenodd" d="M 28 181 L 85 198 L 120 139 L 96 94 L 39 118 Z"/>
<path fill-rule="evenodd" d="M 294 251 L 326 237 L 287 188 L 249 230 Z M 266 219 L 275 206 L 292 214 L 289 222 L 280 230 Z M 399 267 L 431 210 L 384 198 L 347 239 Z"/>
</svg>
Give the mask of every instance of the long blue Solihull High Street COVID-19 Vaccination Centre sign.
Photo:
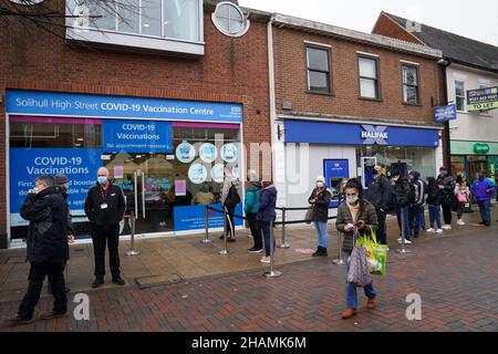
<svg viewBox="0 0 498 354">
<path fill-rule="evenodd" d="M 7 112 L 33 115 L 241 123 L 242 105 L 163 98 L 7 91 Z"/>
</svg>

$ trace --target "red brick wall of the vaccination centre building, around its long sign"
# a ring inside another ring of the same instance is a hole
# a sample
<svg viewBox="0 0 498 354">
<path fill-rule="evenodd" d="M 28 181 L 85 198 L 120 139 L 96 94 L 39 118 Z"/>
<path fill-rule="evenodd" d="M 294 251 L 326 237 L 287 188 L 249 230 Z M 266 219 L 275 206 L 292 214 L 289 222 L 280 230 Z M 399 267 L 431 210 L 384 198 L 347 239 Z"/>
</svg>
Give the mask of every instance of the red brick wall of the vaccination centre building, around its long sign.
<svg viewBox="0 0 498 354">
<path fill-rule="evenodd" d="M 51 2 L 63 7 L 60 0 Z M 270 142 L 266 30 L 266 23 L 251 21 L 243 37 L 231 39 L 206 13 L 205 55 L 177 59 L 74 48 L 40 30 L 28 35 L 24 27 L 10 19 L 1 28 L 0 87 L 3 97 L 6 88 L 30 88 L 241 103 L 246 145 Z M 0 134 L 6 136 L 3 104 L 0 118 Z M 3 145 L 0 152 L 4 157 Z M 4 173 L 0 173 L 1 186 L 6 186 Z M 0 194 L 0 233 L 6 230 L 4 196 Z"/>
</svg>

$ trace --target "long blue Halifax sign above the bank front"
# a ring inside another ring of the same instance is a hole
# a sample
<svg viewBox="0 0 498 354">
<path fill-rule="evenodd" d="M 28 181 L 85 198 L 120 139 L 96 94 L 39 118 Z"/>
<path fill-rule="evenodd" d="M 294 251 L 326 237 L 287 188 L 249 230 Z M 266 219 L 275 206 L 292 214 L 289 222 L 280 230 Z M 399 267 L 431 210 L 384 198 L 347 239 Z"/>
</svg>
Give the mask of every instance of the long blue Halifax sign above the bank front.
<svg viewBox="0 0 498 354">
<path fill-rule="evenodd" d="M 436 129 L 307 121 L 286 121 L 284 125 L 286 143 L 430 147 L 439 144 Z"/>
</svg>

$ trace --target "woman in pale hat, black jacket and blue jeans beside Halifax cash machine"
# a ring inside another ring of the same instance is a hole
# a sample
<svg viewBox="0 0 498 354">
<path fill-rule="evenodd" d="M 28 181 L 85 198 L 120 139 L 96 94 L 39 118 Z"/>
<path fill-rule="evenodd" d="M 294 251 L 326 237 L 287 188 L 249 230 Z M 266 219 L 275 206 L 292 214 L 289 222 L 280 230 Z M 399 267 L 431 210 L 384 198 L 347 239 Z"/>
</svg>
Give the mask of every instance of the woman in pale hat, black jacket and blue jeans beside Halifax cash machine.
<svg viewBox="0 0 498 354">
<path fill-rule="evenodd" d="M 332 192 L 326 188 L 325 177 L 318 176 L 315 188 L 311 192 L 308 202 L 313 207 L 312 221 L 317 230 L 318 248 L 313 257 L 328 257 L 329 232 L 326 222 L 329 221 L 329 205 L 332 200 Z"/>
</svg>

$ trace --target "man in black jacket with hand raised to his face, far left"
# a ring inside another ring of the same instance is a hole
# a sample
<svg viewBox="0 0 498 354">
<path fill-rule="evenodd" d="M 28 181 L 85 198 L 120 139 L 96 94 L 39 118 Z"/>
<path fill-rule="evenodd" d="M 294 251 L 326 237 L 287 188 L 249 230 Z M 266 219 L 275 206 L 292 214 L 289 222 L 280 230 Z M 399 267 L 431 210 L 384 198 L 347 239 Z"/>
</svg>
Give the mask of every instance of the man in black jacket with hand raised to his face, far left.
<svg viewBox="0 0 498 354">
<path fill-rule="evenodd" d="M 34 180 L 21 206 L 20 215 L 30 221 L 27 235 L 27 260 L 30 261 L 28 291 L 19 306 L 18 315 L 11 319 L 15 324 L 33 321 L 34 308 L 45 277 L 49 277 L 54 298 L 52 312 L 41 319 L 65 315 L 68 298 L 63 264 L 68 260 L 68 209 L 61 190 L 53 186 L 52 177 L 42 175 Z"/>
</svg>

